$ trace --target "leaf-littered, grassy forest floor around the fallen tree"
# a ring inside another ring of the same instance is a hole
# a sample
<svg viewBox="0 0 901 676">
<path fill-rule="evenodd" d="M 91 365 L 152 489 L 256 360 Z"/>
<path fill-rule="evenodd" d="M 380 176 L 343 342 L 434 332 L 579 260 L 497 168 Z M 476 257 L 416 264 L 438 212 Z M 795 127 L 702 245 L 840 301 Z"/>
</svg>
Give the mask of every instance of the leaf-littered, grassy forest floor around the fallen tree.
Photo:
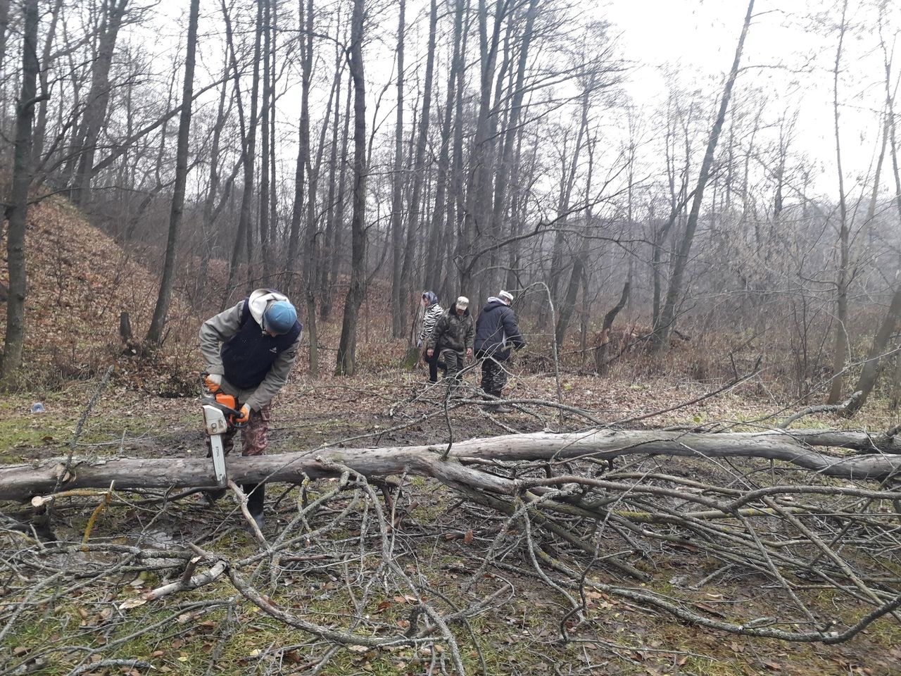
<svg viewBox="0 0 901 676">
<path fill-rule="evenodd" d="M 474 386 L 476 380 L 474 374 L 470 375 L 469 385 Z M 0 397 L 0 462 L 21 463 L 65 455 L 76 433 L 78 418 L 96 388 L 96 380 L 83 381 L 47 395 L 41 401 L 46 412 L 41 414 L 30 413 L 31 400 Z M 564 403 L 589 411 L 610 425 L 648 416 L 625 426 L 756 429 L 775 425 L 780 418 L 801 408 L 792 404 L 779 407 L 774 397 L 753 383 L 679 407 L 715 388 L 690 380 L 674 382 L 671 378 L 656 381 L 564 375 L 560 380 Z M 472 391 L 475 393 L 474 388 Z M 552 374 L 521 376 L 514 380 L 508 396 L 556 400 L 557 381 Z M 532 406 L 519 407 L 505 416 L 488 415 L 484 407 L 475 404 L 455 409 L 448 419 L 440 411 L 441 388 L 427 390 L 421 370 L 386 371 L 349 379 L 323 377 L 317 381 L 298 374 L 278 397 L 268 452 L 321 445 L 446 443 L 448 425 L 452 425 L 458 440 L 514 431 L 564 431 L 588 425 L 585 420 L 572 416 L 561 419 L 552 409 Z M 652 415 L 659 411 L 667 412 Z M 829 415 L 811 416 L 805 420 L 805 426 L 863 425 L 882 431 L 898 421 L 896 413 L 878 403 L 868 408 L 867 416 L 852 423 Z M 102 457 L 202 453 L 200 429 L 195 398 L 145 394 L 130 383 L 114 379 L 90 411 L 76 453 Z M 327 483 L 314 482 L 309 487 L 311 494 L 326 490 Z M 297 492 L 290 487 L 269 489 L 269 532 L 278 532 L 278 527 L 287 524 L 296 513 Z M 22 507 L 7 504 L 0 511 L 12 515 L 17 509 L 21 511 Z M 568 616 L 568 606 L 560 594 L 536 576 L 532 562 L 514 556 L 506 560 L 503 568 L 485 572 L 483 580 L 464 589 L 464 581 L 478 569 L 493 542 L 496 518 L 461 501 L 437 482 L 421 479 L 405 481 L 396 509 L 396 546 L 404 552 L 401 558 L 420 580 L 427 580 L 436 598 L 465 606 L 472 598 L 496 590 L 502 580 L 510 589 L 493 607 L 453 629 L 471 673 L 901 673 L 901 623 L 893 617 L 879 620 L 847 644 L 789 644 L 690 626 L 659 611 L 589 592 L 585 602 L 590 621 L 578 623 Z M 60 504 L 59 521 L 53 526 L 57 537 L 69 543 L 80 542 L 90 516 L 91 508 L 83 500 Z M 327 537 L 332 549 L 352 556 L 357 546 L 352 531 L 338 529 Z M 90 540 L 145 545 L 195 543 L 226 551 L 233 557 L 248 555 L 256 546 L 241 526 L 241 515 L 231 499 L 223 498 L 214 509 L 204 510 L 198 506 L 196 496 L 161 508 L 143 507 L 141 500 L 133 496 L 116 499 L 96 520 Z M 23 534 L 11 533 L 0 533 L 0 543 L 4 551 L 33 544 Z M 86 566 L 96 563 L 90 561 L 89 553 L 82 556 Z M 359 565 L 360 571 L 367 570 L 362 563 Z M 697 582 L 714 567 L 712 562 L 699 561 L 691 551 L 670 548 L 645 563 L 651 581 L 632 583 L 636 589 L 653 589 L 678 598 L 688 593 L 686 580 Z M 328 624 L 347 614 L 354 590 L 342 586 L 342 575 L 337 569 L 323 567 L 306 574 L 286 574 L 285 584 L 293 587 L 295 601 L 303 599 L 304 617 Z M 618 573 L 611 570 L 607 575 L 609 580 L 616 580 Z M 440 662 L 441 655 L 436 653 L 441 652 L 441 645 L 435 645 L 433 651 L 354 648 L 331 654 L 328 644 L 310 642 L 307 635 L 260 613 L 259 607 L 240 597 L 234 599 L 233 589 L 220 582 L 122 611 L 116 608 L 123 599 L 159 586 L 159 577 L 152 572 L 137 576 L 125 572 L 106 578 L 103 583 L 93 580 L 67 598 L 45 600 L 15 619 L 3 638 L 5 658 L 14 656 L 26 664 L 29 657 L 39 653 L 56 655 L 50 664 L 41 666 L 37 659 L 32 662 L 34 671 L 30 672 L 43 674 L 71 672 L 84 659 L 84 650 L 92 651 L 90 660 L 96 662 L 140 657 L 152 665 L 153 673 L 302 674 L 314 672 L 317 667 L 321 667 L 319 673 L 334 675 L 440 672 L 435 665 Z M 630 583 L 621 576 L 619 582 Z M 0 580 L 0 624 L 9 617 L 3 608 L 4 596 L 11 589 L 9 582 Z M 232 595 L 228 604 L 213 603 L 227 595 Z M 760 576 L 741 571 L 706 582 L 693 598 L 698 609 L 711 617 L 723 618 L 776 615 L 775 607 L 784 601 L 781 589 Z M 402 593 L 384 589 L 381 597 L 372 600 L 372 612 L 382 621 L 403 627 L 405 607 L 410 600 Z M 860 614 L 860 608 L 833 607 L 827 590 L 820 600 L 824 613 L 841 617 L 856 610 Z M 207 603 L 211 605 L 206 607 Z M 560 641 L 561 625 L 567 627 L 567 643 Z M 159 629 L 148 632 L 148 626 Z M 325 654 L 331 656 L 319 664 Z M 96 671 L 81 671 L 147 672 L 139 667 L 100 666 Z"/>
</svg>

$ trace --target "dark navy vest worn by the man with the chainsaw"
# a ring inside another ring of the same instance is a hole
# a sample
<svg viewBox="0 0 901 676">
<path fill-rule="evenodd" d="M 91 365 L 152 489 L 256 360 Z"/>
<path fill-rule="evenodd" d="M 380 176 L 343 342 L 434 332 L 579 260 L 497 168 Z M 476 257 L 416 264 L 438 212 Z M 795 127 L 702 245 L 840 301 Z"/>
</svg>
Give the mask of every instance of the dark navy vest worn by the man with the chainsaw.
<svg viewBox="0 0 901 676">
<path fill-rule="evenodd" d="M 223 343 L 220 351 L 225 379 L 236 388 L 256 388 L 266 378 L 278 355 L 295 343 L 302 329 L 300 322 L 295 322 L 283 335 L 263 333 L 257 320 L 250 315 L 250 298 L 244 298 L 241 328 Z"/>
</svg>

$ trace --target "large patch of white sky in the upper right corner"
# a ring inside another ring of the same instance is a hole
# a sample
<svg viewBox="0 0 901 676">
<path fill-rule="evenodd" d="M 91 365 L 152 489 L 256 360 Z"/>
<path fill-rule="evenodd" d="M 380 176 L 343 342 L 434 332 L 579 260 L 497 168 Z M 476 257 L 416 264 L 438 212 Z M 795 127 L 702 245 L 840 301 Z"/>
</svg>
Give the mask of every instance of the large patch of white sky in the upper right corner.
<svg viewBox="0 0 901 676">
<path fill-rule="evenodd" d="M 885 90 L 875 5 L 850 0 L 848 6 L 839 84 L 846 190 L 867 182 L 881 142 Z M 899 25 L 892 5 L 887 7 L 889 50 Z M 613 24 L 623 57 L 634 62 L 624 87 L 639 108 L 665 100 L 673 73 L 679 87 L 699 83 L 718 96 L 746 11 L 744 0 L 606 0 L 599 10 Z M 841 0 L 757 0 L 733 94 L 734 102 L 734 95 L 749 87 L 767 92 L 765 121 L 783 110 L 798 111 L 794 149 L 820 169 L 815 190 L 833 198 L 838 177 L 832 69 L 841 13 Z M 886 178 L 884 173 L 883 184 Z"/>
</svg>

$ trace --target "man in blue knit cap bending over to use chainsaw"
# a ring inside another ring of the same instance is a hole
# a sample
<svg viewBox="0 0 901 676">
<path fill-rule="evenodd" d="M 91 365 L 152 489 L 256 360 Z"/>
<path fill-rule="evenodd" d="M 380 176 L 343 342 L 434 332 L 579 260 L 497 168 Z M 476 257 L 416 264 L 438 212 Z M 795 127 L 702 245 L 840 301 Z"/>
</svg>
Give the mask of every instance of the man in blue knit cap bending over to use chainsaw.
<svg viewBox="0 0 901 676">
<path fill-rule="evenodd" d="M 206 361 L 205 386 L 238 399 L 241 455 L 266 452 L 271 401 L 287 382 L 297 358 L 303 326 L 287 296 L 271 288 L 258 288 L 238 305 L 207 319 L 200 327 L 200 352 Z M 236 407 L 237 408 L 237 407 Z M 232 450 L 236 429 L 222 435 L 223 450 Z M 207 436 L 207 445 L 210 439 Z M 211 450 L 212 452 L 212 450 Z M 208 455 L 211 452 L 207 453 Z M 241 487 L 257 525 L 263 526 L 264 485 Z M 207 503 L 224 490 L 207 493 Z"/>
</svg>

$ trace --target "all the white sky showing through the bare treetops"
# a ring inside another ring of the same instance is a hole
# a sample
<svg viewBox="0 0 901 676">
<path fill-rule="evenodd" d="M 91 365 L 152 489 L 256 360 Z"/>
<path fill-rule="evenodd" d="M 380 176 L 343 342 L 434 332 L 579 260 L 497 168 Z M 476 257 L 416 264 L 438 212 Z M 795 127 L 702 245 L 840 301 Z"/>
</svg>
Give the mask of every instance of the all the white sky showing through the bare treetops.
<svg viewBox="0 0 901 676">
<path fill-rule="evenodd" d="M 631 97 L 634 108 L 646 120 L 656 123 L 653 120 L 655 113 L 665 105 L 672 87 L 684 91 L 701 90 L 711 111 L 718 104 L 724 76 L 732 65 L 747 9 L 744 0 L 601 0 L 597 5 L 590 0 L 584 1 L 597 18 L 611 23 L 616 51 L 632 67 L 624 78 L 623 88 Z M 408 4 L 408 39 L 418 35 L 424 40 L 427 20 L 419 11 L 421 3 L 409 0 Z M 854 192 L 855 186 L 860 191 L 871 180 L 869 172 L 881 135 L 879 114 L 885 94 L 876 5 L 877 0 L 849 0 L 848 23 L 851 27 L 844 41 L 840 100 L 842 162 L 846 189 L 850 193 Z M 893 5 L 887 5 L 889 45 L 896 27 L 901 26 L 901 10 Z M 159 32 L 152 36 L 149 46 L 159 54 L 160 59 L 171 59 L 173 51 L 181 46 L 177 24 L 178 17 L 187 12 L 187 3 L 162 0 L 155 11 L 159 16 Z M 292 11 L 296 12 L 296 3 L 292 4 Z M 755 19 L 742 56 L 742 75 L 733 94 L 735 102 L 751 87 L 765 92 L 768 104 L 763 116 L 764 123 L 772 123 L 785 111 L 789 114 L 798 111 L 793 150 L 815 162 L 819 174 L 815 175 L 813 187 L 816 192 L 833 199 L 837 193 L 838 179 L 831 71 L 841 11 L 841 0 L 757 0 Z M 218 68 L 223 42 L 219 3 L 203 0 L 201 12 L 201 34 L 212 32 L 214 35 L 208 43 L 210 49 L 198 50 L 198 68 L 201 64 L 206 69 Z M 588 14 L 592 12 L 589 10 Z M 417 19 L 418 23 L 411 25 Z M 447 17 L 442 19 L 440 30 L 449 30 L 449 21 Z M 364 55 L 369 81 L 369 131 L 371 115 L 375 112 L 374 97 L 385 82 L 393 78 L 394 44 L 391 40 L 396 31 L 396 14 L 382 14 L 378 28 L 381 39 L 370 41 Z M 327 50 L 330 55 L 332 47 L 322 43 L 320 49 Z M 331 56 L 324 58 L 331 59 Z M 408 46 L 408 92 L 417 86 L 416 78 L 421 80 L 423 77 L 422 64 L 418 66 L 418 73 L 413 71 L 417 59 L 422 58 L 421 49 Z M 436 81 L 443 83 L 442 66 L 437 68 Z M 249 87 L 249 82 L 246 84 Z M 299 90 L 299 86 L 295 89 Z M 378 111 L 378 121 L 382 123 L 381 131 L 384 132 L 393 130 L 393 91 L 392 86 Z M 215 93 L 210 95 L 214 97 Z M 324 97 L 327 95 L 327 91 L 322 93 L 322 110 L 317 109 L 316 102 L 311 102 L 314 123 L 318 123 L 324 112 Z M 292 101 L 298 96 L 299 91 L 289 92 L 279 100 L 279 119 L 285 123 L 287 139 L 296 137 L 299 105 L 294 105 Z M 441 94 L 438 99 L 443 105 Z M 617 117 L 624 115 L 615 109 L 610 111 L 606 123 L 623 129 L 625 122 Z M 406 119 L 407 123 L 412 122 L 411 112 L 406 113 Z M 767 133 L 764 130 L 760 134 L 761 143 L 767 141 Z M 771 140 L 775 132 L 769 130 L 769 133 Z M 702 141 L 705 142 L 705 139 Z M 282 148 L 284 152 L 279 152 L 279 161 L 289 163 L 295 153 L 285 145 Z M 661 160 L 659 152 L 649 150 L 649 154 L 651 157 L 645 158 L 646 161 L 653 162 L 654 157 Z M 884 173 L 883 185 L 886 185 L 887 178 Z"/>
</svg>

